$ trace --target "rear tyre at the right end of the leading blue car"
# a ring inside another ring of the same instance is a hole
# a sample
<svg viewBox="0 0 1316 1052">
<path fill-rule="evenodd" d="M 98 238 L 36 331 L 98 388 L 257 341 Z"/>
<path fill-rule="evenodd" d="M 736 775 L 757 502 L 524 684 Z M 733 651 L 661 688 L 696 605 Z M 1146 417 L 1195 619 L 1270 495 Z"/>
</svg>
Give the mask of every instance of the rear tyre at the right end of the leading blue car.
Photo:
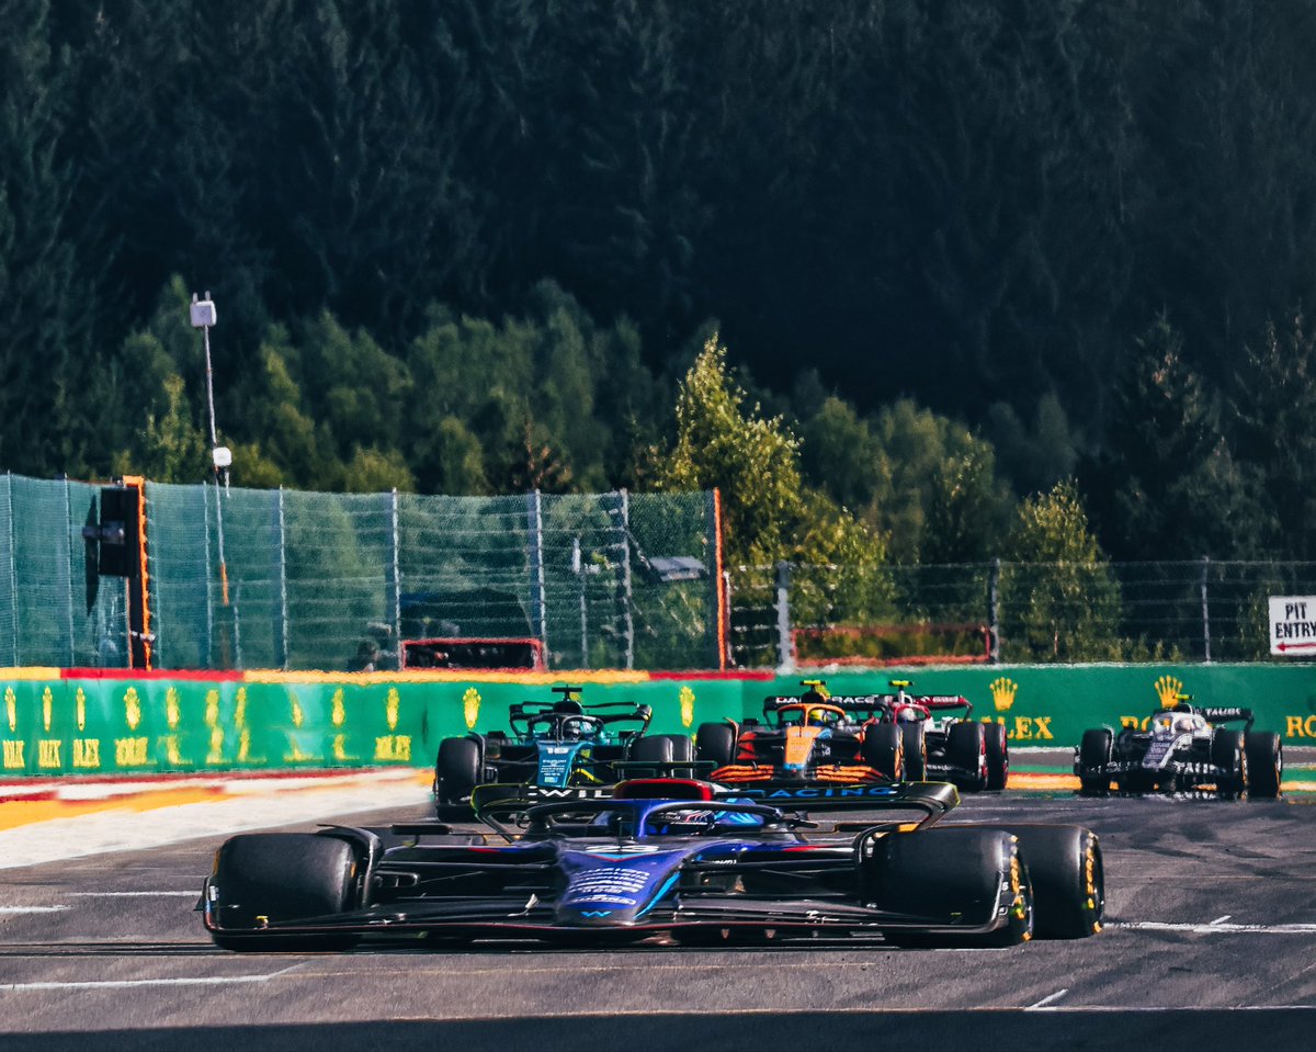
<svg viewBox="0 0 1316 1052">
<path fill-rule="evenodd" d="M 1082 826 L 1011 826 L 1033 878 L 1040 939 L 1084 939 L 1105 916 L 1105 865 L 1096 833 Z"/>
</svg>

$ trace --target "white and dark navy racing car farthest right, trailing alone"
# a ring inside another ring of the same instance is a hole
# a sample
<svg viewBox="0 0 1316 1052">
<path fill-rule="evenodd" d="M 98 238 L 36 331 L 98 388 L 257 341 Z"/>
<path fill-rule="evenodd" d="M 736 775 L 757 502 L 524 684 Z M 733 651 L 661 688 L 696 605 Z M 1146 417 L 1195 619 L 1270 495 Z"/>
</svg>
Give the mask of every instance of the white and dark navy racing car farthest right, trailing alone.
<svg viewBox="0 0 1316 1052">
<path fill-rule="evenodd" d="M 1221 725 L 1237 722 L 1242 731 Z M 1209 789 L 1221 799 L 1274 799 L 1284 769 L 1279 735 L 1253 731 L 1253 722 L 1250 708 L 1198 707 L 1180 695 L 1154 711 L 1146 729 L 1084 731 L 1074 750 L 1079 793 L 1104 797 L 1113 783 L 1120 793 Z"/>
</svg>

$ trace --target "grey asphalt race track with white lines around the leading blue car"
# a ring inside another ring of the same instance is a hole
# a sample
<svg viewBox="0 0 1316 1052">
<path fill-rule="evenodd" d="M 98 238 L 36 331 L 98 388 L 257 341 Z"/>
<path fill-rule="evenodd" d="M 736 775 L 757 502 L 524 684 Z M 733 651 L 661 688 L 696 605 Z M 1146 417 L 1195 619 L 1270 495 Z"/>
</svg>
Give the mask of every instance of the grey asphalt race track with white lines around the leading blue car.
<svg viewBox="0 0 1316 1052">
<path fill-rule="evenodd" d="M 7 869 L 0 1049 L 1311 1048 L 1311 799 L 969 798 L 959 820 L 1088 824 L 1107 866 L 1101 935 L 973 952 L 234 955 L 192 912 L 221 837 Z"/>
</svg>

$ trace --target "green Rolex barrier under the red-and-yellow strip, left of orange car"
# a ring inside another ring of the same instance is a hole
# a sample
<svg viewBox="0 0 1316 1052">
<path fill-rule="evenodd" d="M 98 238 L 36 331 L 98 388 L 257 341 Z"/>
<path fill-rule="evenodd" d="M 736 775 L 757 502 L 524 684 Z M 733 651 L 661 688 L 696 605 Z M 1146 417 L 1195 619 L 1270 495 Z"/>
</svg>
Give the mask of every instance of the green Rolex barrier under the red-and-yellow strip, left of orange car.
<svg viewBox="0 0 1316 1052">
<path fill-rule="evenodd" d="M 638 679 L 638 677 L 632 677 Z M 507 729 L 533 682 L 322 677 L 11 679 L 0 670 L 0 778 L 365 766 L 428 768 L 443 737 Z M 578 682 L 576 678 L 561 682 Z M 736 681 L 588 682 L 587 702 L 653 707 L 651 733 L 741 711 Z"/>
</svg>

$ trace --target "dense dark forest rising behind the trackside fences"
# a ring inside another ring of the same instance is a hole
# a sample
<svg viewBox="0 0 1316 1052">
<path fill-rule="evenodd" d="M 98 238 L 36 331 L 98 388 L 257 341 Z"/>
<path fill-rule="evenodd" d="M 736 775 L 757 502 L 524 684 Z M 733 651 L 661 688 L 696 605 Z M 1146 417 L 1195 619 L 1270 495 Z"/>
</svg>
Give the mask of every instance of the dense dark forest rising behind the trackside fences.
<svg viewBox="0 0 1316 1052">
<path fill-rule="evenodd" d="M 240 486 L 728 487 L 703 383 L 808 504 L 744 554 L 1053 494 L 1313 558 L 1312 54 L 1313 0 L 0 0 L 0 470 L 203 479 L 209 291 Z"/>
</svg>

